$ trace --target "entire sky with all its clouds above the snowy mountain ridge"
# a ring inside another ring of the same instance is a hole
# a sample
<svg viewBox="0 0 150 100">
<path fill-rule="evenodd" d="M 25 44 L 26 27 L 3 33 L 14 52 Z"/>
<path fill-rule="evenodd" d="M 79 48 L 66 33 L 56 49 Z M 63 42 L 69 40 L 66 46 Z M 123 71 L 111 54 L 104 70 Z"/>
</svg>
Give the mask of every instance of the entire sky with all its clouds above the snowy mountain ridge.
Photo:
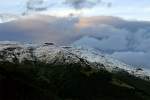
<svg viewBox="0 0 150 100">
<path fill-rule="evenodd" d="M 90 46 L 150 69 L 149 0 L 0 0 L 0 41 Z"/>
</svg>

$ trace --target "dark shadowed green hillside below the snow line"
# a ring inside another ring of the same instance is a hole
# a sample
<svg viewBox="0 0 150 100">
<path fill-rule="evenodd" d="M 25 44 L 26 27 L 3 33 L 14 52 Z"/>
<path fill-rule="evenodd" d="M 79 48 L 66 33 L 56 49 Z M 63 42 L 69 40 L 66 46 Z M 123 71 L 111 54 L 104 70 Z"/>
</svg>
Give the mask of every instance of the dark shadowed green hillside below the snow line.
<svg viewBox="0 0 150 100">
<path fill-rule="evenodd" d="M 150 82 L 80 63 L 1 62 L 0 100 L 150 100 Z"/>
</svg>

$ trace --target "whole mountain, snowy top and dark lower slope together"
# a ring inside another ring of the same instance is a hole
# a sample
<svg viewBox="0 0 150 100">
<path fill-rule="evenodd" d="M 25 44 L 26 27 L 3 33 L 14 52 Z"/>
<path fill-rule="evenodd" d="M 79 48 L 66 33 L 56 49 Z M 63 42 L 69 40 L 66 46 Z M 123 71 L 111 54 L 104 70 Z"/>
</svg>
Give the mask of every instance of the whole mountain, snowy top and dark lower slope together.
<svg viewBox="0 0 150 100">
<path fill-rule="evenodd" d="M 1 100 L 149 100 L 143 69 L 90 48 L 0 42 Z"/>
</svg>

